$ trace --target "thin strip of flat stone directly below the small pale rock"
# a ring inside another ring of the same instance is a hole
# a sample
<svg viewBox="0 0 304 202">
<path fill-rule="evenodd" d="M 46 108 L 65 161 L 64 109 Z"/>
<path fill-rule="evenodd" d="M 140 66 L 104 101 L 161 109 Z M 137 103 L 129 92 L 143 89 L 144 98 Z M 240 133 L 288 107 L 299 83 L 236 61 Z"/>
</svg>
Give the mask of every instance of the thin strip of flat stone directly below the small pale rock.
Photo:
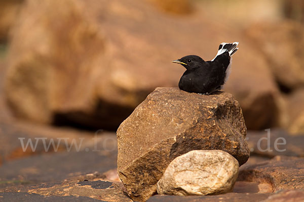
<svg viewBox="0 0 304 202">
<path fill-rule="evenodd" d="M 270 193 L 226 193 L 220 195 L 204 195 L 204 196 L 172 196 L 172 195 L 155 195 L 147 200 L 147 202 L 256 202 L 266 199 Z"/>
</svg>

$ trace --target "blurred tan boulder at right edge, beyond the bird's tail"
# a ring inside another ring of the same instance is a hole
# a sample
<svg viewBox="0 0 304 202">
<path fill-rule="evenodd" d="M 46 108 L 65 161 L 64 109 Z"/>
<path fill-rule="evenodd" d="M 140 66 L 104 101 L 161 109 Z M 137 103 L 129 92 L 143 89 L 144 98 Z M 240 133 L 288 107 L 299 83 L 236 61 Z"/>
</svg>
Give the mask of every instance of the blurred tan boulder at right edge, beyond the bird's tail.
<svg viewBox="0 0 304 202">
<path fill-rule="evenodd" d="M 303 26 L 294 21 L 273 24 L 263 22 L 247 30 L 269 60 L 276 79 L 287 88 L 304 85 L 303 32 Z"/>
</svg>

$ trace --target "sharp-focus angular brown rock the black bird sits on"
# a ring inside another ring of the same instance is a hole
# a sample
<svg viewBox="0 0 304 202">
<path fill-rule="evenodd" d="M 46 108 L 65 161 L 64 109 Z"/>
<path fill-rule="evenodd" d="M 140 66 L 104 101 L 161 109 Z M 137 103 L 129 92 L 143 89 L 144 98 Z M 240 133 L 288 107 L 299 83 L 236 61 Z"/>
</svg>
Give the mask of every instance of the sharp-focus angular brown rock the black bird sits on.
<svg viewBox="0 0 304 202">
<path fill-rule="evenodd" d="M 157 88 L 117 131 L 118 172 L 134 200 L 156 193 L 171 161 L 191 150 L 220 149 L 239 164 L 249 157 L 246 126 L 232 94 Z"/>
</svg>

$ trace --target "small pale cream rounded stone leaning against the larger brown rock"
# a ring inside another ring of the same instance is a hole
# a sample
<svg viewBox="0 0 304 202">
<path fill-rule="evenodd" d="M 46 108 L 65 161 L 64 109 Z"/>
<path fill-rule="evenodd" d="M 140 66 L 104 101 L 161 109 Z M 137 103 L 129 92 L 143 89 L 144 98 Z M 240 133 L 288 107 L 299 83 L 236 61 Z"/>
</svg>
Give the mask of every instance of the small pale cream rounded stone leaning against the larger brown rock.
<svg viewBox="0 0 304 202">
<path fill-rule="evenodd" d="M 216 195 L 232 191 L 238 161 L 222 150 L 193 150 L 174 159 L 157 183 L 159 194 Z"/>
</svg>

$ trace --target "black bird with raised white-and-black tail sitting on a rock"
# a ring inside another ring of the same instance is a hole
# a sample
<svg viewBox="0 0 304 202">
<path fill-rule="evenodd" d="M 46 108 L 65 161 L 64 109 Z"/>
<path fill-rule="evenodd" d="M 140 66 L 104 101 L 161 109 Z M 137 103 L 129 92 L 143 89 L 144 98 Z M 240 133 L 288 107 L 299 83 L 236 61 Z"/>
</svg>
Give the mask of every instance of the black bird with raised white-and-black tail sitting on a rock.
<svg viewBox="0 0 304 202">
<path fill-rule="evenodd" d="M 231 56 L 239 49 L 238 44 L 239 42 L 221 43 L 211 61 L 204 61 L 194 55 L 172 61 L 187 69 L 179 80 L 179 89 L 205 95 L 222 89 L 230 74 Z"/>
</svg>

